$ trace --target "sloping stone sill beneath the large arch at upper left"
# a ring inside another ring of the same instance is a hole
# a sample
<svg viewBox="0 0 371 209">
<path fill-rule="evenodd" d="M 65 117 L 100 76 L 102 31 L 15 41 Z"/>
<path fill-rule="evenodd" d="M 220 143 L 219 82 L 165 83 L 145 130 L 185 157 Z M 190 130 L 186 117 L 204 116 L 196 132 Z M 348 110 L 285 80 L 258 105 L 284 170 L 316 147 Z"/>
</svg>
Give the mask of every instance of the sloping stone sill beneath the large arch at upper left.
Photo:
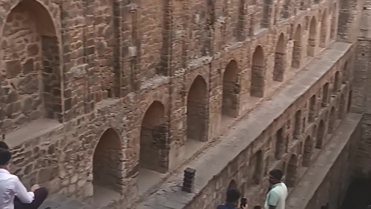
<svg viewBox="0 0 371 209">
<path fill-rule="evenodd" d="M 62 123 L 53 119 L 37 119 L 20 129 L 6 134 L 5 142 L 10 148 L 13 148 L 62 127 Z"/>
</svg>

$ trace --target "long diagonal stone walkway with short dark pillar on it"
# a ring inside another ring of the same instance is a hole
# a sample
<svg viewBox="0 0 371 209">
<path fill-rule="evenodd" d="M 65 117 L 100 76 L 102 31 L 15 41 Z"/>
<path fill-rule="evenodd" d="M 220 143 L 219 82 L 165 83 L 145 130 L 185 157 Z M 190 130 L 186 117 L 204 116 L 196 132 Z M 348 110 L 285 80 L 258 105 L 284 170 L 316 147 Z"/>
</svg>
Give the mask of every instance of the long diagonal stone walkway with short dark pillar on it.
<svg viewBox="0 0 371 209">
<path fill-rule="evenodd" d="M 139 204 L 142 209 L 169 209 L 185 208 L 202 189 L 213 180 L 214 176 L 232 162 L 246 147 L 250 145 L 262 132 L 288 107 L 303 96 L 332 66 L 342 58 L 351 48 L 352 44 L 334 42 L 319 56 L 321 59 L 309 63 L 307 70 L 302 71 L 288 87 L 277 92 L 271 100 L 264 101 L 262 105 L 245 116 L 234 129 L 224 136 L 220 144 L 204 151 L 204 155 L 191 161 L 187 167 L 197 170 L 195 179 L 195 193 L 181 191 L 182 174 L 170 177 L 173 186 L 164 185 L 162 190 L 148 198 L 148 201 Z M 248 127 L 248 128 L 247 128 Z M 221 155 L 222 153 L 222 155 Z M 220 156 L 223 156 L 220 158 Z M 202 160 L 201 160 L 202 159 Z M 205 170 L 204 168 L 207 168 Z"/>
</svg>

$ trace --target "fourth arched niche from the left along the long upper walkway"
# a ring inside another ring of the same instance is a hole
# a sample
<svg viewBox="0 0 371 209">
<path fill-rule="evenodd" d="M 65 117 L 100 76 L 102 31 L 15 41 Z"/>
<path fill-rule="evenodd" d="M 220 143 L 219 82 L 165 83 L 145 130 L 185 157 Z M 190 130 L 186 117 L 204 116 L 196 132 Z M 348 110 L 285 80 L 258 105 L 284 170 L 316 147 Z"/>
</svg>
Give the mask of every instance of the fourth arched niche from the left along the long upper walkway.
<svg viewBox="0 0 371 209">
<path fill-rule="evenodd" d="M 238 84 L 238 65 L 236 60 L 231 60 L 224 71 L 222 115 L 236 117 L 239 109 L 240 85 Z"/>
</svg>

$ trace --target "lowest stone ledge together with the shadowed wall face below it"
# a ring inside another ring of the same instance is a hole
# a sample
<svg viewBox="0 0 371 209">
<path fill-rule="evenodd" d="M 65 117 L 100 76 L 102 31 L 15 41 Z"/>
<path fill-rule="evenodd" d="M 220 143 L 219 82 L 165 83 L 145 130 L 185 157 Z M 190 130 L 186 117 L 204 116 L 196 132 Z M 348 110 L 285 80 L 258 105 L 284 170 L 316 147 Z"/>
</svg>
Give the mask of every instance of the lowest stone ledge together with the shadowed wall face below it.
<svg viewBox="0 0 371 209">
<path fill-rule="evenodd" d="M 356 168 L 353 162 L 357 162 L 361 120 L 361 114 L 345 116 L 323 153 L 289 194 L 286 208 L 311 209 L 328 204 L 329 209 L 337 209 L 342 206 Z"/>
</svg>

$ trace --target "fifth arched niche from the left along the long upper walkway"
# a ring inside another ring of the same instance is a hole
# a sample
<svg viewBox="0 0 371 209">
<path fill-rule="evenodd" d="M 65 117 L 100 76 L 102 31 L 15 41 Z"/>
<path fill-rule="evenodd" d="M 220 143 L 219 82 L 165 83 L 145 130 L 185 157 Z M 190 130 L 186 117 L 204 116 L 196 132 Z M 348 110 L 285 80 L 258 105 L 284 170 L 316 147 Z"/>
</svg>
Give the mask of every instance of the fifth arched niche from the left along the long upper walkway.
<svg viewBox="0 0 371 209">
<path fill-rule="evenodd" d="M 265 58 L 262 46 L 256 46 L 251 67 L 250 95 L 263 97 L 265 89 Z"/>
</svg>

